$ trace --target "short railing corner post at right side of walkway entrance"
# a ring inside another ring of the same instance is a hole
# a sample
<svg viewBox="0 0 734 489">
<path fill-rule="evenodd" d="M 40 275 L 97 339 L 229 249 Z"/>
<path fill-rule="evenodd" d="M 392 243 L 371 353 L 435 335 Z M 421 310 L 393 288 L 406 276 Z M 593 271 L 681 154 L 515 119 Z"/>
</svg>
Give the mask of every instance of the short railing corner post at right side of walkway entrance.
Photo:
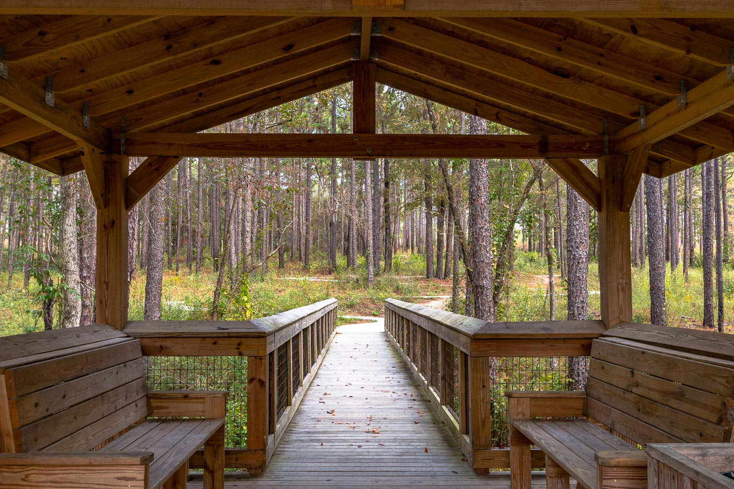
<svg viewBox="0 0 734 489">
<path fill-rule="evenodd" d="M 459 360 L 459 367 L 460 365 Z M 490 359 L 487 357 L 472 356 L 469 358 L 468 394 L 471 449 L 490 449 L 492 448 L 492 411 L 490 409 L 492 386 L 490 385 Z M 459 416 L 461 416 L 460 413 Z M 475 468 L 475 470 L 480 474 L 488 473 L 486 468 Z"/>
</svg>

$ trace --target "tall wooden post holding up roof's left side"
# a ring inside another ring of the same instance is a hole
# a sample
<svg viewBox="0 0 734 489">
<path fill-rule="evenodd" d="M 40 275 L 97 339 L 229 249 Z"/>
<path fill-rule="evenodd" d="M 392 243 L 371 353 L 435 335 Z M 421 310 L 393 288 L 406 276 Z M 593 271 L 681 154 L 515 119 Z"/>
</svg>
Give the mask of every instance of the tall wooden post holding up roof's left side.
<svg viewBox="0 0 734 489">
<path fill-rule="evenodd" d="M 128 158 L 103 155 L 101 165 L 104 180 L 97 205 L 95 322 L 122 329 L 128 320 Z"/>
</svg>

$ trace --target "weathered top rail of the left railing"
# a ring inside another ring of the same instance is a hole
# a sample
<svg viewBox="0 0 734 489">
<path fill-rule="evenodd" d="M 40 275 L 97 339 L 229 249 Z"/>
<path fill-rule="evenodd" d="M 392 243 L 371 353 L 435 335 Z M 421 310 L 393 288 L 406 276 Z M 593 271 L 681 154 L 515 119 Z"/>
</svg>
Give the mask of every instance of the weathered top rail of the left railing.
<svg viewBox="0 0 734 489">
<path fill-rule="evenodd" d="M 311 323 L 337 306 L 335 298 L 249 321 L 128 321 L 123 333 L 134 338 L 269 337 L 290 326 Z"/>
</svg>

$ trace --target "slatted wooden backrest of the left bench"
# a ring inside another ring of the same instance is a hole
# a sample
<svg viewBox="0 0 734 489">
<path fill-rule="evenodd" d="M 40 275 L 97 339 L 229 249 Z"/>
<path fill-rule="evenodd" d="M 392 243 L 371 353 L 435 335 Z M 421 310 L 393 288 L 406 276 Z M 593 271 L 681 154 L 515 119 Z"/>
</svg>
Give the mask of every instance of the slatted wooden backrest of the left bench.
<svg viewBox="0 0 734 489">
<path fill-rule="evenodd" d="M 88 450 L 148 414 L 140 343 L 108 325 L 0 338 L 0 451 Z"/>
</svg>

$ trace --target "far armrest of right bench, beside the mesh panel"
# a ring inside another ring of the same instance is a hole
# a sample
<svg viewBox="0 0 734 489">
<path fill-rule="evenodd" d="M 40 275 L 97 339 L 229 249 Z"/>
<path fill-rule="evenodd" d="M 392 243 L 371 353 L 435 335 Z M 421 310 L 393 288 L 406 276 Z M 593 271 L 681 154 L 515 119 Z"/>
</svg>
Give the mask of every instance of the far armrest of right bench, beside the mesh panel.
<svg viewBox="0 0 734 489">
<path fill-rule="evenodd" d="M 505 392 L 510 419 L 584 416 L 584 391 Z"/>
</svg>

